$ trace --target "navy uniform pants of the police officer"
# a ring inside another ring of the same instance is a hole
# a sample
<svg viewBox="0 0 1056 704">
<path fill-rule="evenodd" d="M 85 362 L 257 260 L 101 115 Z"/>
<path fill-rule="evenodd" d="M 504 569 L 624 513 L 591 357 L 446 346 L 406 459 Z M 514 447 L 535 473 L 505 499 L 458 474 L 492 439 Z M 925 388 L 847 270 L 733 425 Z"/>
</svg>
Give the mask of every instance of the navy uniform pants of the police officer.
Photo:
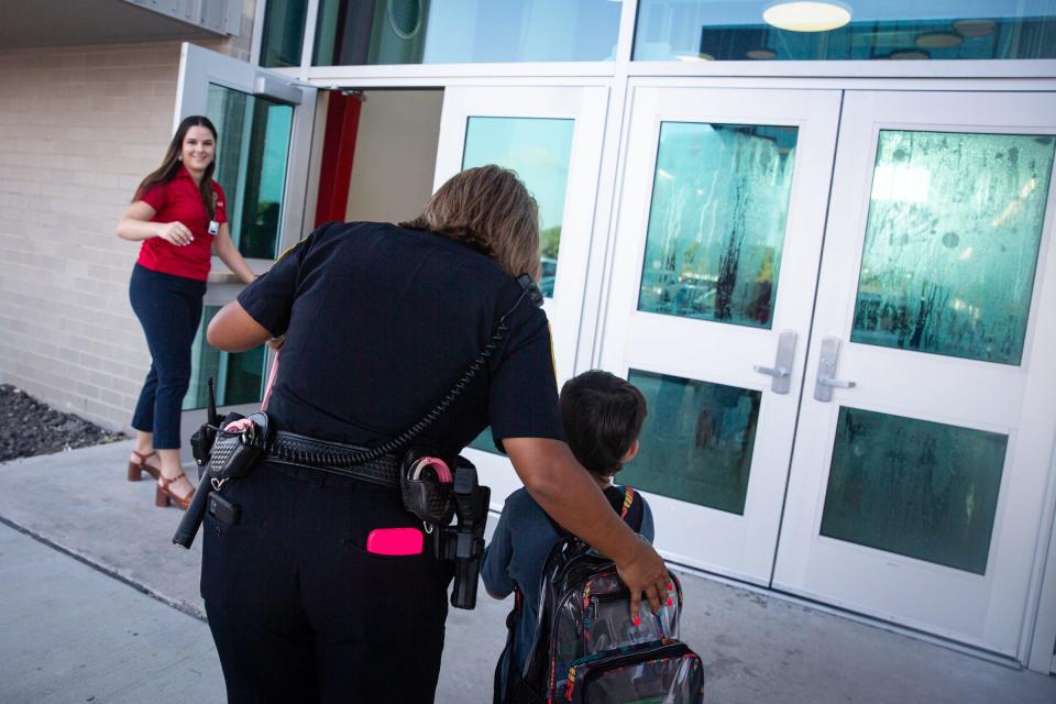
<svg viewBox="0 0 1056 704">
<path fill-rule="evenodd" d="M 398 492 L 265 462 L 204 525 L 201 595 L 231 704 L 432 702 L 451 563 L 366 552 L 375 528 L 421 528 Z"/>
</svg>

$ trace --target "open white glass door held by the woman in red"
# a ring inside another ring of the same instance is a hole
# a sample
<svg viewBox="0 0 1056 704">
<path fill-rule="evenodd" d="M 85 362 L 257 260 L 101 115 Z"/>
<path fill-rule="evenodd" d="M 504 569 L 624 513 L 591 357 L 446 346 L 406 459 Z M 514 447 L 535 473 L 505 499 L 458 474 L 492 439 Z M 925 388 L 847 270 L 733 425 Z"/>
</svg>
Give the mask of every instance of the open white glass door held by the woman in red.
<svg viewBox="0 0 1056 704">
<path fill-rule="evenodd" d="M 174 128 L 191 114 L 205 114 L 216 125 L 213 177 L 228 199 L 231 237 L 257 273 L 305 234 L 315 110 L 315 88 L 199 46 L 182 47 Z M 216 383 L 217 402 L 242 413 L 260 405 L 265 380 L 264 348 L 229 354 L 205 341 L 209 320 L 242 289 L 233 275 L 223 274 L 219 257 L 213 256 L 212 268 L 193 350 L 182 437 L 204 417 L 208 378 Z"/>
</svg>

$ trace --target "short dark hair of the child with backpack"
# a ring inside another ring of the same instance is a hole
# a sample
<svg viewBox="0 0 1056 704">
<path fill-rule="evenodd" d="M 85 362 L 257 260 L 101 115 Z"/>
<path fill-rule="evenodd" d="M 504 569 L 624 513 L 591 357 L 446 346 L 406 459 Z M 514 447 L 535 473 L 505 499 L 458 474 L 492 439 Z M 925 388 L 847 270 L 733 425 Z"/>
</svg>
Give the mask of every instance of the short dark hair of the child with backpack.
<svg viewBox="0 0 1056 704">
<path fill-rule="evenodd" d="M 565 382 L 561 416 L 580 464 L 595 476 L 612 476 L 641 432 L 646 397 L 615 374 L 592 370 Z"/>
</svg>

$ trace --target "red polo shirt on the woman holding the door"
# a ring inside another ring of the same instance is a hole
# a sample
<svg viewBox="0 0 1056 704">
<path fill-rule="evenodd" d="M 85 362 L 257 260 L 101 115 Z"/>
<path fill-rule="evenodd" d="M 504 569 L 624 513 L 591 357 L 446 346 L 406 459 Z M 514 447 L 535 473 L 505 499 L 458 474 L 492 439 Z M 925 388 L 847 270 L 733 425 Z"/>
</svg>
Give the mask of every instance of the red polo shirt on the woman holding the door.
<svg viewBox="0 0 1056 704">
<path fill-rule="evenodd" d="M 212 219 L 219 229 L 220 224 L 228 221 L 227 202 L 223 189 L 217 182 L 212 182 L 212 193 L 217 196 Z M 154 208 L 151 222 L 183 222 L 195 239 L 183 246 L 170 244 L 162 238 L 143 240 L 139 263 L 154 272 L 206 280 L 216 235 L 209 234 L 209 215 L 190 172 L 180 166 L 172 180 L 154 186 L 140 200 Z"/>
</svg>

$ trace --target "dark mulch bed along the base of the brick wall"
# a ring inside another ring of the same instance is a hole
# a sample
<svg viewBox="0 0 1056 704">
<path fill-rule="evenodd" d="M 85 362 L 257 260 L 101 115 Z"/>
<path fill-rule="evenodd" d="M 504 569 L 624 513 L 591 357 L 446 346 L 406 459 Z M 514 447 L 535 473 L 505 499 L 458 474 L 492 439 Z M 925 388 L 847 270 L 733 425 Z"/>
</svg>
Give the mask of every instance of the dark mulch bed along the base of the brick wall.
<svg viewBox="0 0 1056 704">
<path fill-rule="evenodd" d="M 48 408 L 10 384 L 0 384 L 0 462 L 118 440 L 124 440 L 124 436 Z"/>
</svg>

